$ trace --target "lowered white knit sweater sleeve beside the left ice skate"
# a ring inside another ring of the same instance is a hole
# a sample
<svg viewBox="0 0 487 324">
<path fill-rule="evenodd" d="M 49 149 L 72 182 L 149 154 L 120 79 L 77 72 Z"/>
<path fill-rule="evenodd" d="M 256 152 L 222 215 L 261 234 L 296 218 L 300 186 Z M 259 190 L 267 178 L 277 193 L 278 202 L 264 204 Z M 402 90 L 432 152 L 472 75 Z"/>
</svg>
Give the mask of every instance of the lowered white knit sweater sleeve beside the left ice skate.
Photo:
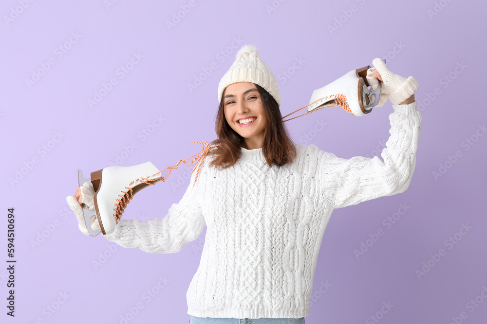
<svg viewBox="0 0 487 324">
<path fill-rule="evenodd" d="M 166 217 L 148 221 L 122 218 L 114 231 L 104 237 L 122 247 L 137 248 L 147 253 L 181 251 L 188 242 L 197 239 L 206 226 L 198 194 L 198 188 L 201 188 L 198 185 L 202 179 L 198 178 L 193 187 L 195 176 L 196 171 L 191 175 L 183 198 L 179 203 L 171 205 Z M 156 199 L 154 205 L 157 205 Z"/>
</svg>

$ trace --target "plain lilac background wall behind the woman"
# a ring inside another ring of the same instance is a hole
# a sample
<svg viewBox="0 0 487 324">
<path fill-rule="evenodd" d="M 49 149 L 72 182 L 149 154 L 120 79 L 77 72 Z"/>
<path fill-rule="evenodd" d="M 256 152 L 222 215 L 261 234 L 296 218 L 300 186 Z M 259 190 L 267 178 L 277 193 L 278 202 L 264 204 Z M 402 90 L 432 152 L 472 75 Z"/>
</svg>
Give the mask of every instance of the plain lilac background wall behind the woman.
<svg viewBox="0 0 487 324">
<path fill-rule="evenodd" d="M 333 213 L 318 256 L 314 302 L 306 323 L 375 323 L 369 317 L 380 313 L 383 302 L 393 308 L 380 323 L 447 324 L 452 317 L 459 321 L 461 312 L 466 314 L 462 323 L 484 323 L 487 136 L 479 128 L 487 121 L 481 102 L 484 2 L 195 0 L 171 28 L 166 21 L 181 6 L 188 8 L 189 1 L 107 2 L 0 4 L 0 259 L 7 259 L 6 209 L 15 207 L 18 260 L 15 318 L 5 314 L 8 279 L 6 266 L 0 266 L 2 323 L 189 321 L 186 291 L 206 230 L 177 254 L 123 249 L 101 235 L 82 235 L 66 196 L 75 192 L 77 169 L 87 176 L 121 155 L 125 158 L 118 164 L 151 161 L 162 170 L 201 150 L 191 141 L 211 142 L 218 83 L 244 44 L 255 45 L 274 71 L 283 115 L 306 105 L 314 89 L 371 65 L 375 57 L 385 57 L 390 70 L 412 75 L 420 84 L 415 98 L 423 126 L 411 186 L 402 194 Z M 273 3 L 277 8 L 268 11 Z M 330 32 L 328 26 L 334 24 L 338 28 Z M 72 33 L 79 39 L 72 37 L 70 44 Z M 66 48 L 62 57 L 59 46 Z M 221 54 L 225 49 L 227 57 Z M 116 71 L 134 52 L 143 58 L 121 78 Z M 55 64 L 29 86 L 26 79 L 50 58 Z M 300 58 L 302 64 L 293 70 Z M 463 70 L 455 72 L 462 62 Z M 187 84 L 212 63 L 216 69 L 189 91 Z M 293 74 L 287 78 L 285 70 Z M 454 80 L 445 83 L 450 73 Z M 90 107 L 87 101 L 111 78 L 117 84 Z M 286 124 L 295 142 L 315 144 L 343 158 L 372 157 L 380 156 L 381 143 L 389 137 L 392 111 L 390 102 L 361 118 L 329 108 Z M 149 127 L 152 133 L 144 137 L 154 116 L 164 121 Z M 319 130 L 317 120 L 326 126 Z M 477 131 L 483 136 L 475 137 Z M 467 150 L 465 140 L 471 136 L 477 141 Z M 49 152 L 43 145 L 51 146 Z M 461 156 L 448 163 L 457 151 Z M 29 162 L 33 158 L 37 163 Z M 449 169 L 435 179 L 432 172 L 439 172 L 445 162 Z M 166 184 L 139 193 L 124 218 L 164 217 L 183 196 L 191 168 L 183 166 Z M 21 170 L 25 174 L 12 183 Z M 186 180 L 179 185 L 183 176 Z M 410 207 L 387 228 L 383 220 L 400 204 Z M 459 233 L 462 224 L 472 228 L 457 236 L 461 240 L 449 249 L 445 241 Z M 378 229 L 384 235 L 357 259 L 354 250 Z M 446 255 L 438 262 L 430 260 L 442 248 Z M 419 279 L 416 270 L 429 260 L 434 267 Z M 162 289 L 157 288 L 160 277 L 167 280 Z M 331 285 L 324 293 L 323 283 Z M 149 300 L 147 290 L 157 293 Z M 477 296 L 480 304 L 470 307 Z M 137 303 L 143 308 L 127 318 Z M 57 309 L 51 312 L 48 307 Z"/>
</svg>

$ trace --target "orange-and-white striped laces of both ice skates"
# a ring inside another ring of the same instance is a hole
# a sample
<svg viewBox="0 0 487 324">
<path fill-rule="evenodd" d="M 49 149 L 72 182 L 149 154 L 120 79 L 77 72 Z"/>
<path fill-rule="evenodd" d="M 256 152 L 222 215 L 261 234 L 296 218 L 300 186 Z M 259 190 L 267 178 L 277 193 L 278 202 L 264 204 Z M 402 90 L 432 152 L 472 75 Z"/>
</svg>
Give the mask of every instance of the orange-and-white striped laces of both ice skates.
<svg viewBox="0 0 487 324">
<path fill-rule="evenodd" d="M 334 106 L 327 106 L 327 107 L 335 107 L 335 106 L 337 106 L 337 107 L 340 107 L 340 108 L 345 109 L 346 111 L 348 111 L 349 113 L 351 113 L 353 115 L 352 111 L 350 110 L 350 108 L 348 106 L 347 98 L 345 97 L 345 95 L 339 93 L 337 95 L 331 95 L 330 98 L 332 98 L 334 96 L 335 96 L 335 105 Z M 284 119 L 284 118 L 286 118 L 288 116 L 291 116 L 291 115 L 297 113 L 298 111 L 300 111 L 300 110 L 308 107 L 309 105 L 311 105 L 311 104 L 313 104 L 315 102 L 318 102 L 320 100 L 323 100 L 325 98 L 326 97 L 323 97 L 323 98 L 320 98 L 320 99 L 318 99 L 318 100 L 316 100 L 314 102 L 311 102 L 311 103 L 305 105 L 304 107 L 301 107 L 300 109 L 295 110 L 295 111 L 293 111 L 290 114 L 287 114 L 286 116 L 282 117 L 282 119 Z M 296 116 L 296 117 L 293 117 L 293 118 L 290 118 L 290 119 L 285 119 L 285 120 L 283 120 L 283 122 L 284 121 L 288 121 L 288 120 L 292 120 L 292 119 L 295 119 L 295 118 L 298 118 L 298 117 L 301 117 L 301 116 L 304 116 L 304 115 L 311 114 L 311 113 L 313 113 L 315 111 L 318 111 L 318 110 L 320 110 L 322 108 L 324 108 L 324 106 L 323 107 L 320 107 L 318 109 L 315 109 L 315 110 L 306 112 L 305 114 L 302 114 L 302 115 L 299 115 L 299 116 Z M 217 145 L 210 146 L 210 144 L 208 142 L 191 142 L 191 143 L 202 144 L 203 147 L 201 149 L 201 152 L 200 153 L 196 153 L 196 154 L 188 157 L 185 160 L 179 160 L 176 164 L 173 164 L 170 167 L 166 167 L 166 169 L 161 170 L 161 171 L 159 171 L 157 173 L 154 173 L 154 174 L 152 174 L 149 177 L 140 177 L 140 178 L 137 178 L 137 179 L 133 180 L 129 184 L 129 186 L 131 186 L 133 183 L 135 183 L 137 181 L 140 182 L 140 183 L 145 183 L 145 184 L 151 185 L 151 186 L 155 185 L 155 183 L 152 183 L 152 182 L 155 182 L 155 181 L 161 180 L 161 181 L 164 182 L 169 177 L 169 174 L 171 174 L 171 171 L 177 169 L 180 163 L 185 163 L 186 165 L 191 165 L 191 164 L 194 163 L 194 161 L 197 161 L 196 164 L 195 164 L 195 166 L 194 166 L 194 168 L 193 168 L 193 170 L 191 171 L 191 174 L 193 174 L 193 172 L 196 169 L 196 167 L 198 167 L 198 170 L 196 171 L 196 176 L 194 178 L 194 183 L 193 183 L 193 187 L 194 187 L 194 185 L 196 184 L 196 180 L 198 179 L 198 174 L 200 172 L 200 167 L 201 167 L 201 164 L 203 162 L 203 159 L 205 158 L 206 154 L 208 154 L 208 152 L 212 148 L 218 146 L 218 144 Z M 196 156 L 196 155 L 199 155 L 199 156 Z M 189 162 L 189 163 L 186 162 L 187 160 L 189 160 L 190 158 L 192 158 L 194 156 L 196 156 L 196 157 L 191 162 Z M 158 174 L 160 175 L 161 172 L 166 171 L 166 170 L 169 170 L 169 172 L 168 172 L 168 174 L 165 177 L 159 176 L 159 177 L 153 178 L 154 176 L 156 176 Z M 132 188 L 131 187 L 125 187 L 125 189 L 126 190 L 122 190 L 121 194 L 118 195 L 118 197 L 120 197 L 120 199 L 116 199 L 116 201 L 118 203 L 113 204 L 115 206 L 115 208 L 113 208 L 113 211 L 115 211 L 115 214 L 113 214 L 113 217 L 115 218 L 115 221 L 116 221 L 117 224 L 118 224 L 118 221 L 122 218 L 122 214 L 125 211 L 125 208 L 127 207 L 127 204 L 131 201 L 131 199 L 133 197 Z"/>
</svg>

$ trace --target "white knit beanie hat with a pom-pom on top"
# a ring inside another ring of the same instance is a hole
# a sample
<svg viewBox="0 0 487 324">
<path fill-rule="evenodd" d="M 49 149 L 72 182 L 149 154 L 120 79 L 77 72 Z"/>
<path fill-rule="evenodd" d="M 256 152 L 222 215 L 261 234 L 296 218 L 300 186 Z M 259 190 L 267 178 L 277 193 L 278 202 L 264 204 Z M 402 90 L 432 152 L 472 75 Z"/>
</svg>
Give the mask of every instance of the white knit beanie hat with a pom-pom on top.
<svg viewBox="0 0 487 324">
<path fill-rule="evenodd" d="M 236 60 L 218 84 L 218 102 L 228 85 L 237 82 L 251 82 L 262 86 L 281 106 L 279 86 L 272 70 L 265 64 L 253 45 L 244 45 L 236 55 Z"/>
</svg>

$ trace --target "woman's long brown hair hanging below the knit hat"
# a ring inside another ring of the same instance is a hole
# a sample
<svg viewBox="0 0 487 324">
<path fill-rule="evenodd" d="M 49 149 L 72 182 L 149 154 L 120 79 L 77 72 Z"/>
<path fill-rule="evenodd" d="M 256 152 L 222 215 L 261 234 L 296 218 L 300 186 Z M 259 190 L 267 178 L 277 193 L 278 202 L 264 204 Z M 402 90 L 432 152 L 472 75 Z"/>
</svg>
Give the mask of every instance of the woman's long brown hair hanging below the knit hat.
<svg viewBox="0 0 487 324">
<path fill-rule="evenodd" d="M 267 125 L 264 128 L 262 153 L 270 167 L 273 165 L 281 167 L 294 160 L 296 148 L 282 122 L 278 103 L 262 86 L 256 85 L 256 87 L 261 96 L 263 114 L 267 120 Z M 244 137 L 235 132 L 225 119 L 224 97 L 225 91 L 222 94 L 215 120 L 218 138 L 211 142 L 212 145 L 219 145 L 208 152 L 209 155 L 214 155 L 209 166 L 219 167 L 220 169 L 226 169 L 237 163 L 244 143 Z"/>
</svg>

